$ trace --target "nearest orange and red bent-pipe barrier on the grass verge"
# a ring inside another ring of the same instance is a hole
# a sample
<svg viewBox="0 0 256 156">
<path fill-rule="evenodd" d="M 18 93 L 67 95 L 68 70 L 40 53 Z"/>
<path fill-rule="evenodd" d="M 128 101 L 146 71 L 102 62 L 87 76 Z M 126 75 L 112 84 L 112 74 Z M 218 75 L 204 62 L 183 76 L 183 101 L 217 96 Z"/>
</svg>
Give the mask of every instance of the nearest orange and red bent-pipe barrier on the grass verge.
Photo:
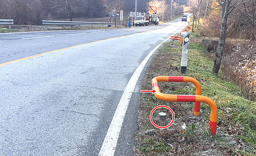
<svg viewBox="0 0 256 156">
<path fill-rule="evenodd" d="M 171 95 L 171 94 L 163 94 L 160 92 L 160 88 L 158 85 L 158 82 L 166 81 L 166 82 L 192 82 L 196 86 L 196 94 L 200 95 Z M 168 76 L 162 76 L 162 77 L 154 77 L 152 79 L 152 86 L 153 89 L 156 91 L 154 95 L 157 99 L 161 99 L 163 101 L 172 101 L 172 102 L 198 102 L 199 103 L 199 110 L 198 105 L 195 104 L 195 112 L 200 112 L 200 102 L 207 103 L 211 108 L 211 116 L 210 116 L 210 130 L 213 134 L 216 134 L 217 129 L 217 120 L 218 120 L 218 108 L 215 102 L 210 99 L 207 96 L 201 96 L 201 89 L 199 89 L 199 86 L 201 88 L 200 83 L 192 78 L 192 77 L 168 77 Z M 197 109 L 197 110 L 196 110 Z M 197 115 L 197 114 L 195 114 Z M 199 115 L 199 114 L 198 114 Z"/>
</svg>

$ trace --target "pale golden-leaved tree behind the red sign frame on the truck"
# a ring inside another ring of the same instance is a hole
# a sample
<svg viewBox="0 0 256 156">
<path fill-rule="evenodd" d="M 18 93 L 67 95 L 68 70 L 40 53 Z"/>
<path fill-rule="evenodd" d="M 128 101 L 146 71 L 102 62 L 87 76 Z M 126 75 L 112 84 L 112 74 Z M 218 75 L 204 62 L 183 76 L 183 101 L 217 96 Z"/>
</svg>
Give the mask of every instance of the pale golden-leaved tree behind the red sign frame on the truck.
<svg viewBox="0 0 256 156">
<path fill-rule="evenodd" d="M 149 11 L 149 6 L 157 7 L 157 14 L 161 17 L 166 13 L 168 9 L 168 4 L 165 0 L 151 0 L 147 3 L 147 11 Z"/>
</svg>

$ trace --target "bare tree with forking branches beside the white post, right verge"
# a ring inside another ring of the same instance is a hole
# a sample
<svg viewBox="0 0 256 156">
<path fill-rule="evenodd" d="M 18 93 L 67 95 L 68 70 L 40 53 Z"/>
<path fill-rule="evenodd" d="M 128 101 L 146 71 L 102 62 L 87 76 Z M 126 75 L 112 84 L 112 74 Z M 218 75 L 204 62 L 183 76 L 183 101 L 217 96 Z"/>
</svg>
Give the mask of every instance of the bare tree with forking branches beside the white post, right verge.
<svg viewBox="0 0 256 156">
<path fill-rule="evenodd" d="M 226 42 L 226 37 L 227 37 L 227 19 L 229 14 L 236 9 L 237 6 L 247 3 L 249 1 L 243 1 L 243 0 L 217 0 L 219 5 L 221 6 L 221 33 L 219 37 L 219 43 L 218 43 L 218 48 L 216 51 L 216 57 L 214 60 L 214 65 L 213 65 L 213 71 L 215 74 L 218 74 L 218 71 L 221 66 L 221 59 L 222 59 L 222 54 L 223 54 L 223 49 L 224 45 Z"/>
</svg>

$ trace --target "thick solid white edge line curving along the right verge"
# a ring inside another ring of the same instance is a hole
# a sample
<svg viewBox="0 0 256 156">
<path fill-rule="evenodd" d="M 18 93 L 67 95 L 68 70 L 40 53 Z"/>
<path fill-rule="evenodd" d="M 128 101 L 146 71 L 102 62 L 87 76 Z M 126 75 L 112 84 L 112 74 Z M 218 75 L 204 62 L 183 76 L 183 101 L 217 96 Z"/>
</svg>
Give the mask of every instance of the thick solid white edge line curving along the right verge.
<svg viewBox="0 0 256 156">
<path fill-rule="evenodd" d="M 180 30 L 182 30 L 181 28 Z M 179 31 L 180 31 L 179 30 Z M 176 34 L 176 31 L 174 34 Z M 172 34 L 172 35 L 174 35 Z M 171 35 L 171 36 L 172 36 Z M 169 37 L 166 40 L 163 40 L 159 45 L 157 45 L 146 57 L 145 59 L 140 63 L 140 65 L 137 67 L 137 69 L 134 71 L 134 74 L 131 76 L 131 79 L 129 80 L 125 91 L 122 94 L 122 97 L 119 101 L 119 104 L 116 108 L 116 112 L 113 116 L 113 119 L 111 121 L 111 124 L 108 128 L 108 132 L 105 136 L 104 142 L 102 144 L 102 147 L 99 151 L 98 156 L 113 156 L 116 150 L 116 144 L 119 138 L 119 133 L 122 128 L 122 123 L 125 118 L 125 113 L 127 111 L 131 95 L 134 92 L 134 88 L 137 84 L 137 81 L 140 77 L 141 72 L 143 71 L 146 63 L 150 59 L 150 57 L 154 54 L 154 52 L 167 40 L 169 40 Z"/>
</svg>

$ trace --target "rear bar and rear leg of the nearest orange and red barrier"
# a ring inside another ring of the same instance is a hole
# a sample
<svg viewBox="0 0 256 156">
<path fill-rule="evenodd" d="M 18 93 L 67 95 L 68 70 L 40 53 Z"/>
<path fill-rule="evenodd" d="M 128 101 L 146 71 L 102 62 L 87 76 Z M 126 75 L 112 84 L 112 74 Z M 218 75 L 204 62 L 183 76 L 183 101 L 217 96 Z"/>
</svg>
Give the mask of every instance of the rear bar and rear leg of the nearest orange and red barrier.
<svg viewBox="0 0 256 156">
<path fill-rule="evenodd" d="M 156 82 L 191 82 L 195 85 L 195 95 L 201 95 L 202 87 L 199 81 L 193 77 L 172 77 L 172 76 L 161 76 L 161 77 L 154 77 Z M 152 79 L 153 84 L 153 79 Z M 200 102 L 195 102 L 195 115 L 200 115 Z"/>
</svg>

